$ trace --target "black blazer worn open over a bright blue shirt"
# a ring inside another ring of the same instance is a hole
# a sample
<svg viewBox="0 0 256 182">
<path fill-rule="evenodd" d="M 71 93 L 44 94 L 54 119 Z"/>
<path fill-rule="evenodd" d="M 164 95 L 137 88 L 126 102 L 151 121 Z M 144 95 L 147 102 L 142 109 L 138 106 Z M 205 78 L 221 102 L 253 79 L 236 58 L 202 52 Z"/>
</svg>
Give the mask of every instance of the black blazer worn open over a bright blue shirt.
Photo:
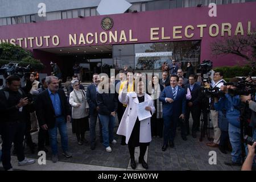
<svg viewBox="0 0 256 182">
<path fill-rule="evenodd" d="M 67 97 L 63 89 L 57 90 L 57 93 L 60 97 L 62 115 L 66 119 L 67 115 L 69 115 Z M 48 89 L 38 95 L 38 100 L 36 101 L 36 116 L 38 117 L 40 126 L 47 124 L 50 129 L 55 126 L 56 115 L 51 98 L 49 97 Z"/>
</svg>

